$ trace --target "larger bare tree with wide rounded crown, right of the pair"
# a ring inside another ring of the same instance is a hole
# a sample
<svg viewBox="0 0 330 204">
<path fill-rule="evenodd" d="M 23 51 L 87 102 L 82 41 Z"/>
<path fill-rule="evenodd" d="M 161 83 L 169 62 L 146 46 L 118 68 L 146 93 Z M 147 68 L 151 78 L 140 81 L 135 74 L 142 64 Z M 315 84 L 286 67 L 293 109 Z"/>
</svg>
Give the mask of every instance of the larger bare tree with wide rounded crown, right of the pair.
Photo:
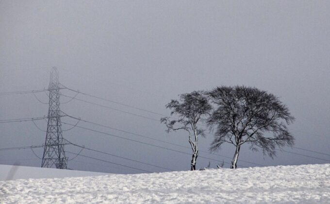
<svg viewBox="0 0 330 204">
<path fill-rule="evenodd" d="M 236 150 L 231 169 L 236 169 L 241 145 L 245 143 L 250 144 L 252 151 L 260 148 L 272 158 L 277 146 L 294 144 L 294 137 L 286 124 L 295 118 L 273 94 L 254 87 L 221 86 L 208 95 L 216 104 L 208 119 L 211 127 L 216 126 L 211 151 L 218 150 L 224 142 L 234 145 Z"/>
</svg>

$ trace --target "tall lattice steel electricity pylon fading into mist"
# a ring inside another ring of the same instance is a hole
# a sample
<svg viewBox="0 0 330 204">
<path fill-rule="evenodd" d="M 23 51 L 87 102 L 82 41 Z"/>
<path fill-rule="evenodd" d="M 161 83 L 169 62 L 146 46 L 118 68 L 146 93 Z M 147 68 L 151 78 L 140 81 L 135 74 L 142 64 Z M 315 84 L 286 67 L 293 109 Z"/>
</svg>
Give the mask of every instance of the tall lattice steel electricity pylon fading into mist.
<svg viewBox="0 0 330 204">
<path fill-rule="evenodd" d="M 46 141 L 41 167 L 67 169 L 67 157 L 64 151 L 60 110 L 60 83 L 57 68 L 50 71 L 49 81 L 49 110 Z"/>
</svg>

